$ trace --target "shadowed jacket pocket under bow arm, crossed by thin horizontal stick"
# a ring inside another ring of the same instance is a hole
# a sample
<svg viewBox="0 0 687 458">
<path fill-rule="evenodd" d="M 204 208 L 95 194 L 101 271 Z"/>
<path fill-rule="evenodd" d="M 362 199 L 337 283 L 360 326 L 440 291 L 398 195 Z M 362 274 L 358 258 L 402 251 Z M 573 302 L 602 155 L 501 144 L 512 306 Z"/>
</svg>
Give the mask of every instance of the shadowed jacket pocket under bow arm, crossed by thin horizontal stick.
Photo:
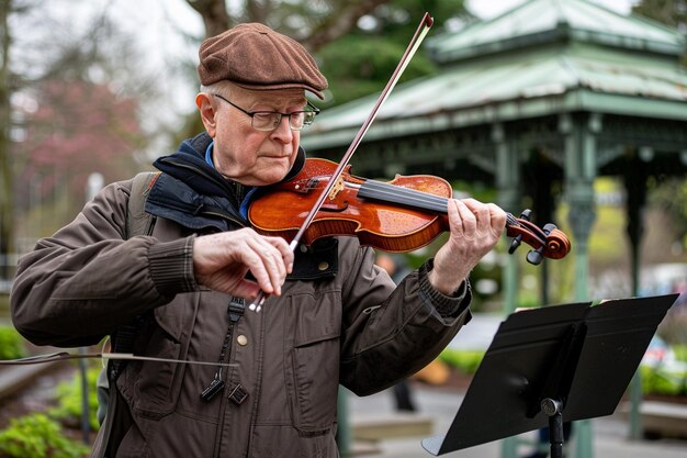
<svg viewBox="0 0 687 458">
<path fill-rule="evenodd" d="M 192 328 L 198 300 L 174 300 L 155 310 L 140 331 L 144 340 L 137 348 L 148 357 L 185 360 L 189 333 Z M 189 298 L 190 299 L 190 298 Z M 140 342 L 140 340 L 138 340 Z M 137 343 L 138 344 L 138 343 Z M 122 393 L 128 398 L 134 415 L 158 420 L 171 413 L 179 399 L 185 365 L 172 361 L 133 361 L 127 370 L 126 387 Z M 132 390 L 131 396 L 126 393 Z"/>
</svg>

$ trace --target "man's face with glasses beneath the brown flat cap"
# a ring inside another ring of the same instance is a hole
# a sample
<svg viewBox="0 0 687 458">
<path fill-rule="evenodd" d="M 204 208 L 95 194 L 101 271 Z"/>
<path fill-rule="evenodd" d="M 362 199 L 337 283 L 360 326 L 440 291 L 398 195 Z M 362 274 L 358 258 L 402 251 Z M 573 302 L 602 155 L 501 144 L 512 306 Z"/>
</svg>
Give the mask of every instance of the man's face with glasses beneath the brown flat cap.
<svg viewBox="0 0 687 458">
<path fill-rule="evenodd" d="M 302 111 L 302 89 L 252 91 L 234 86 L 227 97 L 248 112 Z M 246 186 L 266 186 L 282 180 L 295 161 L 300 132 L 292 131 L 288 116 L 270 132 L 258 131 L 251 118 L 221 98 L 196 99 L 207 133 L 214 138 L 213 161 L 217 171 Z"/>
</svg>

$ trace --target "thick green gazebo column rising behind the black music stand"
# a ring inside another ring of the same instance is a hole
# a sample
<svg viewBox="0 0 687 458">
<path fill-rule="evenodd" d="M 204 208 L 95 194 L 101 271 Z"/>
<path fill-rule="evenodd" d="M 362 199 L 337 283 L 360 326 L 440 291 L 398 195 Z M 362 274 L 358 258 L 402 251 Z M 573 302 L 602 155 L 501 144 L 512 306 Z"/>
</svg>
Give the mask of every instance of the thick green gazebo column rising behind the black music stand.
<svg viewBox="0 0 687 458">
<path fill-rule="evenodd" d="M 589 300 L 589 234 L 596 220 L 594 180 L 596 178 L 596 134 L 601 130 L 601 115 L 562 114 L 559 132 L 563 135 L 565 155 L 565 196 L 570 205 L 568 222 L 573 232 L 575 256 L 575 301 Z M 575 455 L 594 458 L 592 422 L 575 422 Z"/>
</svg>

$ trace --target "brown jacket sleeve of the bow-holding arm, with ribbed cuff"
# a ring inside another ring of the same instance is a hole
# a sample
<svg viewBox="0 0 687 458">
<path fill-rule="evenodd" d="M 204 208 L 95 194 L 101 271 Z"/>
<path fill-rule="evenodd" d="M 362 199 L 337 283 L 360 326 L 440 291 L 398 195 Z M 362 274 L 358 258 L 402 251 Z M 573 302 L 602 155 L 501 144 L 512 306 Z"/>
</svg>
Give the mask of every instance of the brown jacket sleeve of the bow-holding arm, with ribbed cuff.
<svg viewBox="0 0 687 458">
<path fill-rule="evenodd" d="M 67 226 L 20 259 L 10 303 L 38 345 L 92 345 L 146 311 L 193 290 L 192 238 L 124 239 L 131 180 L 105 187 Z"/>
</svg>

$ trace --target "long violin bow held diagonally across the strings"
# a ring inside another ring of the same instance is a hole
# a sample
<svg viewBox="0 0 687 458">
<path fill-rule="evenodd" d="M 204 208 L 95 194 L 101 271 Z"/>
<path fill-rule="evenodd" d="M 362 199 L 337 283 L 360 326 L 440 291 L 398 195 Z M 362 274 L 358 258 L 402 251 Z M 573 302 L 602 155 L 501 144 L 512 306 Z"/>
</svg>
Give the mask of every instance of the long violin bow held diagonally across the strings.
<svg viewBox="0 0 687 458">
<path fill-rule="evenodd" d="M 331 189 L 334 188 L 334 186 L 338 182 L 339 178 L 341 177 L 341 174 L 344 172 L 344 169 L 346 168 L 346 166 L 348 166 L 348 163 L 353 156 L 353 153 L 356 153 L 356 149 L 360 145 L 360 142 L 362 142 L 362 137 L 368 133 L 368 130 L 370 129 L 370 125 L 376 118 L 376 114 L 382 108 L 382 104 L 386 101 L 386 99 L 391 94 L 391 91 L 394 89 L 394 87 L 401 79 L 403 71 L 406 69 L 410 59 L 413 58 L 417 49 L 420 47 L 420 44 L 425 40 L 427 32 L 429 32 L 429 29 L 432 26 L 433 23 L 435 23 L 435 20 L 429 15 L 429 13 L 426 12 L 419 25 L 417 26 L 417 30 L 415 31 L 415 34 L 413 35 L 410 43 L 406 47 L 406 51 L 403 54 L 403 57 L 398 62 L 398 65 L 396 66 L 396 69 L 394 70 L 391 79 L 388 80 L 388 82 L 386 83 L 386 87 L 384 88 L 384 90 L 378 98 L 376 102 L 374 103 L 374 107 L 372 108 L 372 111 L 368 115 L 368 119 L 364 121 L 364 123 L 358 131 L 358 134 L 356 134 L 353 142 L 350 144 L 350 146 L 346 150 L 346 154 L 341 158 L 339 166 L 336 168 L 336 170 L 331 175 L 331 179 L 327 182 L 327 186 L 325 186 L 325 188 L 323 189 L 322 193 L 319 194 L 319 198 L 317 199 L 317 201 L 315 202 L 315 204 L 313 205 L 308 214 L 305 216 L 303 224 L 301 224 L 299 232 L 296 232 L 296 235 L 293 237 L 293 239 L 289 244 L 289 247 L 291 248 L 292 252 L 295 252 L 296 247 L 299 246 L 299 243 L 301 242 L 301 238 L 303 237 L 303 234 L 305 234 L 305 231 L 307 231 L 308 226 L 315 219 L 315 215 L 322 208 L 323 203 L 325 202 L 325 199 L 327 198 L 329 192 L 331 192 Z M 258 293 L 258 297 L 248 305 L 248 309 L 255 312 L 259 312 L 262 309 L 262 304 L 264 303 L 266 299 L 267 299 L 267 294 L 263 291 L 260 291 Z"/>
</svg>

